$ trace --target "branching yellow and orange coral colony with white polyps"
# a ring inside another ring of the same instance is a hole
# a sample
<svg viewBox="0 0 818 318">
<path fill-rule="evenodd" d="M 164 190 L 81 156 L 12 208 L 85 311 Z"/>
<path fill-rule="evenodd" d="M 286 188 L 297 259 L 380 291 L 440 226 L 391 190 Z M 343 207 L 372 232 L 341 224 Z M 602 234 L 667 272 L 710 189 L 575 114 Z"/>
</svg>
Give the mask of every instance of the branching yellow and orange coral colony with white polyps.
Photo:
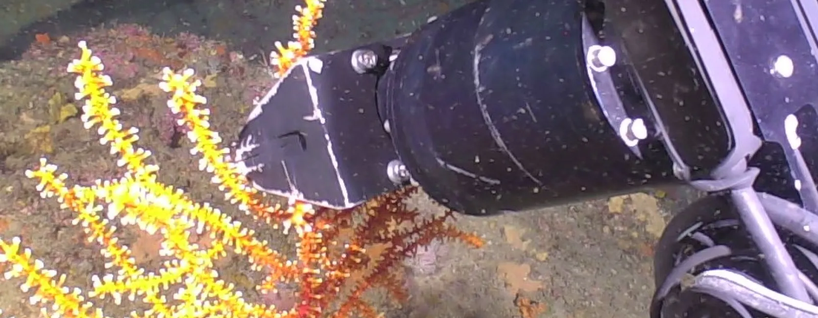
<svg viewBox="0 0 818 318">
<path fill-rule="evenodd" d="M 313 47 L 312 28 L 321 18 L 323 0 L 308 0 L 296 7 L 294 38 L 287 47 L 276 43 L 272 54 L 278 74 L 283 74 Z M 40 159 L 38 168 L 26 176 L 39 181 L 43 198 L 56 198 L 61 208 L 74 212 L 74 225 L 82 226 L 89 242 L 95 242 L 106 259 L 106 272 L 92 275 L 88 290 L 66 286 L 66 276 L 47 268 L 23 247 L 20 237 L 0 236 L 0 268 L 4 278 L 20 280 L 29 302 L 47 316 L 107 317 L 98 302 L 146 304 L 133 317 L 376 317 L 380 313 L 366 302 L 365 292 L 384 289 L 394 300 L 408 298 L 402 262 L 415 257 L 429 244 L 460 240 L 474 247 L 483 242 L 476 235 L 449 224 L 453 213 L 425 216 L 404 204 L 416 189 L 399 190 L 348 211 L 313 207 L 290 199 L 287 206 L 247 185 L 237 163 L 227 159 L 221 138 L 209 129 L 207 102 L 196 90 L 200 81 L 194 71 L 181 74 L 164 69 L 159 84 L 170 97 L 168 106 L 178 114 L 193 145 L 191 155 L 200 157 L 199 169 L 213 174 L 213 183 L 231 204 L 295 238 L 296 253 L 286 257 L 240 222 L 207 203 L 196 203 L 184 191 L 157 181 L 160 167 L 146 162 L 151 150 L 137 146 L 137 128 L 119 122 L 116 99 L 106 92 L 113 82 L 86 43 L 81 55 L 68 66 L 78 74 L 77 100 L 84 100 L 81 119 L 95 129 L 103 145 L 118 155 L 128 169 L 124 177 L 97 180 L 91 186 L 70 186 L 68 176 Z M 160 235 L 160 254 L 171 260 L 158 271 L 137 265 L 132 251 L 117 237 L 117 226 L 137 226 Z M 212 243 L 197 244 L 192 233 L 209 235 Z M 227 253 L 247 258 L 252 270 L 265 276 L 255 284 L 260 293 L 278 293 L 295 286 L 294 305 L 277 308 L 245 301 L 234 284 L 220 275 L 215 262 Z M 143 306 L 134 306 L 143 307 Z"/>
</svg>

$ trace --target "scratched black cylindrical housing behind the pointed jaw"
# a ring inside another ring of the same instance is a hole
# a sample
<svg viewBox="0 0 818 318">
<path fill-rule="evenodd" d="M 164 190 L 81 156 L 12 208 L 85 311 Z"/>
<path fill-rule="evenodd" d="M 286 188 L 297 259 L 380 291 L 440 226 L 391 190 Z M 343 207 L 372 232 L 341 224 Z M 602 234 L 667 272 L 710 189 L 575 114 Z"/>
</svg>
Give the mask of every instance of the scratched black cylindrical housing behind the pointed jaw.
<svg viewBox="0 0 818 318">
<path fill-rule="evenodd" d="M 468 214 L 675 182 L 596 101 L 578 1 L 477 1 L 416 31 L 379 84 L 394 146 L 433 199 Z"/>
</svg>

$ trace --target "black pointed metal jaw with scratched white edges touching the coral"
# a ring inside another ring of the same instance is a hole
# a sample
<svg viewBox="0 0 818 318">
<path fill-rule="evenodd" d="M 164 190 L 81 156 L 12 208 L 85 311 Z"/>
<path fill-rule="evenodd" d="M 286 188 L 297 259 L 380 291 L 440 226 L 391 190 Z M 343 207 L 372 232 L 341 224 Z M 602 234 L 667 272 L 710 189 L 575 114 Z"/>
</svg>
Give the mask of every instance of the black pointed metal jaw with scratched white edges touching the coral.
<svg viewBox="0 0 818 318">
<path fill-rule="evenodd" d="M 389 47 L 371 44 L 309 56 L 255 103 L 236 161 L 259 190 L 328 208 L 352 208 L 397 189 L 397 158 L 375 88 Z"/>
</svg>

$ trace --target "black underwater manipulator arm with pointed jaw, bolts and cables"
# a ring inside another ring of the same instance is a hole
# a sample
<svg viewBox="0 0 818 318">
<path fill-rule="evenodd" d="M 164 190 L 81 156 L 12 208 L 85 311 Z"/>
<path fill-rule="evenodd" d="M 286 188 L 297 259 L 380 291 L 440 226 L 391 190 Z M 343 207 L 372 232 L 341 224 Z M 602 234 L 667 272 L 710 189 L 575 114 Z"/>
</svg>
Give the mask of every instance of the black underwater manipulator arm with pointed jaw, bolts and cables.
<svg viewBox="0 0 818 318">
<path fill-rule="evenodd" d="M 650 315 L 818 317 L 816 30 L 814 0 L 479 0 L 301 60 L 237 155 L 260 190 L 331 208 L 410 184 L 486 216 L 693 186 Z"/>
</svg>

